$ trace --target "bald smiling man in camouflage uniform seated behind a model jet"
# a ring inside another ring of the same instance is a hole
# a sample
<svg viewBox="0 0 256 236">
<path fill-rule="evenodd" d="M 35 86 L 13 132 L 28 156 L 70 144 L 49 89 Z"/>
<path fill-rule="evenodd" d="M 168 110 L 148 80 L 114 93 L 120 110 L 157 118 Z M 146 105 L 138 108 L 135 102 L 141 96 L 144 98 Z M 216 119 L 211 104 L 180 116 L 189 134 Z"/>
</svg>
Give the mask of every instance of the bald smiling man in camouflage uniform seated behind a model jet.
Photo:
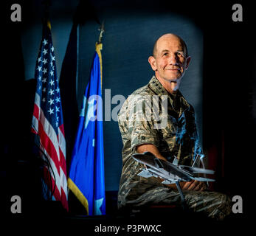
<svg viewBox="0 0 256 236">
<path fill-rule="evenodd" d="M 162 35 L 148 58 L 155 76 L 148 85 L 137 89 L 122 105 L 118 123 L 122 135 L 122 176 L 118 207 L 156 204 L 181 204 L 173 184 L 161 178 L 137 176 L 143 165 L 131 156 L 150 151 L 157 158 L 192 165 L 196 155 L 203 155 L 198 145 L 195 112 L 179 89 L 181 77 L 190 63 L 187 46 L 177 35 Z M 198 163 L 197 163 L 198 165 Z M 181 182 L 187 206 L 210 218 L 223 219 L 231 212 L 230 199 L 207 191 L 201 181 Z"/>
</svg>

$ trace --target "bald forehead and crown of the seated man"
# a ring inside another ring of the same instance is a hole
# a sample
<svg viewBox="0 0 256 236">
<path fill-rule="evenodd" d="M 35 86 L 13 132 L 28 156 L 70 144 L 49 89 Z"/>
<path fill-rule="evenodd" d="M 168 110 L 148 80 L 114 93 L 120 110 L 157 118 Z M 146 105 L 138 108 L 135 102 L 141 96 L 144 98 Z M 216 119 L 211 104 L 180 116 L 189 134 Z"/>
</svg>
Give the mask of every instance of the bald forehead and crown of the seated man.
<svg viewBox="0 0 256 236">
<path fill-rule="evenodd" d="M 176 36 L 167 36 L 159 38 L 156 44 L 157 52 L 162 52 L 163 50 L 168 51 L 184 51 L 184 46 L 181 40 Z"/>
</svg>

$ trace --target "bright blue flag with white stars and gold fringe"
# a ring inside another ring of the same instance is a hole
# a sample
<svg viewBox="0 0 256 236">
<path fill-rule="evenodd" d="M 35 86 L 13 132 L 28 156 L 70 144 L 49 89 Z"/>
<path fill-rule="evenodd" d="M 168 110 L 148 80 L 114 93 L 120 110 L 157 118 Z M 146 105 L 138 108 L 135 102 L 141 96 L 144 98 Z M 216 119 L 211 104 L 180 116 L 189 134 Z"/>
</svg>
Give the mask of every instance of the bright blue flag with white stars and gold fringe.
<svg viewBox="0 0 256 236">
<path fill-rule="evenodd" d="M 105 215 L 101 49 L 102 44 L 96 44 L 68 179 L 69 189 L 85 206 L 88 215 Z"/>
</svg>

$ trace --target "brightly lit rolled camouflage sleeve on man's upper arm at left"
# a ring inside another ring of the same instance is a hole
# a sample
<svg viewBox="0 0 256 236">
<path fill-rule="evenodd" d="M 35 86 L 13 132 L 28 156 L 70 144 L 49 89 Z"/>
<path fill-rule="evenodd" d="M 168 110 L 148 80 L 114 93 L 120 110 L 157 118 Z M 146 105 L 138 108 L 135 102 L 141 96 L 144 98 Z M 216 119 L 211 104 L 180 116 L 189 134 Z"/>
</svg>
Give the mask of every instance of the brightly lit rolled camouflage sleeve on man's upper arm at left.
<svg viewBox="0 0 256 236">
<path fill-rule="evenodd" d="M 159 131 L 155 128 L 151 96 L 137 94 L 129 106 L 128 130 L 131 133 L 131 150 L 142 144 L 159 146 Z"/>
</svg>

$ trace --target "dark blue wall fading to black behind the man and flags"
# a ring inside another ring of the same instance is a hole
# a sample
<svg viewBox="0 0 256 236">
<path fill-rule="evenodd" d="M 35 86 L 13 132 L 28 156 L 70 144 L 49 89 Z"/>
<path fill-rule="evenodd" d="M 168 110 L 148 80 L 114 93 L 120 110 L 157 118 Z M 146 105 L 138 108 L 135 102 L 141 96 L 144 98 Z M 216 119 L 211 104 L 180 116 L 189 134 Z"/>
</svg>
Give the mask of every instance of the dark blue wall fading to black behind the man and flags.
<svg viewBox="0 0 256 236">
<path fill-rule="evenodd" d="M 59 75 L 76 3 L 52 2 L 55 7 L 50 15 Z M 13 3 L 21 4 L 22 22 L 10 21 L 10 4 Z M 80 8 L 83 24 L 79 31 L 77 102 L 80 106 L 89 76 L 89 64 L 99 33 L 97 20 L 102 22 L 105 18 L 103 89 L 111 89 L 112 96 L 122 94 L 127 97 L 131 91 L 147 83 L 152 74 L 147 58 L 159 35 L 168 31 L 181 35 L 193 56 L 181 91 L 196 107 L 198 125 L 203 133 L 202 144 L 209 157 L 209 166 L 216 170 L 215 190 L 242 195 L 246 212 L 252 203 L 249 200 L 255 172 L 255 19 L 253 5 L 241 1 L 243 22 L 233 22 L 232 4 L 235 3 L 201 2 L 199 6 L 190 1 L 147 1 L 147 4 L 143 1 L 94 1 L 93 4 L 84 4 L 84 8 Z M 35 5 L 38 8 L 33 8 Z M 35 168 L 24 167 L 17 161 L 30 157 L 35 84 L 27 79 L 34 73 L 32 63 L 35 63 L 41 38 L 39 21 L 42 8 L 39 6 L 39 1 L 4 1 L 2 7 L 4 61 L 0 167 L 3 190 L 7 195 L 1 196 L 4 198 L 1 203 L 9 203 L 10 196 L 15 194 L 24 194 L 27 196 L 24 201 L 30 202 L 30 195 L 35 193 L 31 188 L 35 182 L 35 178 L 31 178 L 36 176 Z M 38 23 L 34 24 L 34 19 Z M 29 30 L 31 25 L 35 25 L 33 32 Z M 23 39 L 26 34 L 27 52 Z M 32 71 L 27 68 L 32 68 Z M 117 190 L 122 147 L 117 122 L 105 122 L 104 132 L 108 136 L 105 139 L 106 187 L 107 190 Z M 109 168 L 112 168 L 111 173 L 108 173 Z"/>
</svg>

